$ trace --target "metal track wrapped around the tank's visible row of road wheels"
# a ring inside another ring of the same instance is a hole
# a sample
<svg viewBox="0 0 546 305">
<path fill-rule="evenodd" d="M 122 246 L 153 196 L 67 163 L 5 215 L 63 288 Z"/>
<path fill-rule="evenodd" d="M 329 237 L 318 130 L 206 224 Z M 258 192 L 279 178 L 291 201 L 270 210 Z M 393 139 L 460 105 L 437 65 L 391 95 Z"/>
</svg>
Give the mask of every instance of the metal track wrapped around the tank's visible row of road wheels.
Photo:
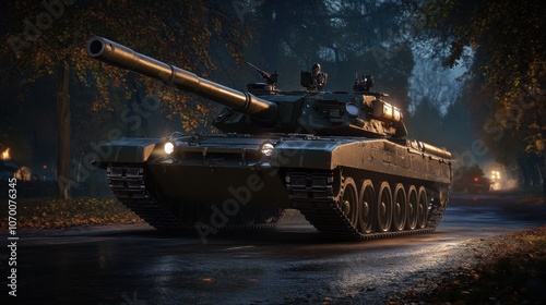
<svg viewBox="0 0 546 305">
<path fill-rule="evenodd" d="M 372 176 L 377 180 L 394 181 L 395 176 L 368 172 L 363 170 L 353 170 L 358 172 L 358 176 Z M 354 178 L 358 178 L 354 176 Z M 340 180 L 343 181 L 343 175 Z M 293 171 L 286 174 L 286 190 L 294 206 L 305 216 L 305 218 L 321 233 L 335 240 L 375 240 L 384 237 L 394 237 L 417 233 L 430 233 L 435 231 L 446 210 L 449 199 L 449 193 L 444 193 L 444 198 L 436 190 L 427 190 L 428 197 L 427 223 L 423 229 L 404 230 L 395 232 L 372 232 L 368 234 L 360 233 L 343 212 L 337 194 L 334 187 L 334 171 L 327 172 L 306 172 Z M 434 183 L 429 184 L 434 185 Z M 447 185 L 443 185 L 447 191 Z M 442 187 L 443 187 L 442 186 Z M 443 202 L 443 203 L 442 203 Z"/>
</svg>

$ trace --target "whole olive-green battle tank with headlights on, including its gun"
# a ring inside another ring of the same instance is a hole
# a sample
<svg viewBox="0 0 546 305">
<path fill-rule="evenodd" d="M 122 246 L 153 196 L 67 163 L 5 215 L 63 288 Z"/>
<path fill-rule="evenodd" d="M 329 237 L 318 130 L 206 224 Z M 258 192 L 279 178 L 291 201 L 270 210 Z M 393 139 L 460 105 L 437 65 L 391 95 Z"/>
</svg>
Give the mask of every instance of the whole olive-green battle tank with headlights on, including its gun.
<svg viewBox="0 0 546 305">
<path fill-rule="evenodd" d="M 372 91 L 322 91 L 310 72 L 301 90 L 266 83 L 237 90 L 103 37 L 91 58 L 225 106 L 222 134 L 134 137 L 95 148 L 114 195 L 159 230 L 191 230 L 206 242 L 233 229 L 271 229 L 297 209 L 322 234 L 370 240 L 431 232 L 448 204 L 451 154 L 407 139 L 401 110 Z M 327 80 L 324 77 L 324 80 Z"/>
</svg>

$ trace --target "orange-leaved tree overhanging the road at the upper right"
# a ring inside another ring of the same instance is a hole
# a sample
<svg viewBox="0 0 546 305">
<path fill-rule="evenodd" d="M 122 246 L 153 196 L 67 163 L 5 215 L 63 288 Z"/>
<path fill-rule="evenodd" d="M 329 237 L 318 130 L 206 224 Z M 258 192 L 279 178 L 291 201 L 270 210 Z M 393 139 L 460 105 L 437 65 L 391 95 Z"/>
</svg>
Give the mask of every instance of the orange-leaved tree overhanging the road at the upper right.
<svg viewBox="0 0 546 305">
<path fill-rule="evenodd" d="M 546 114 L 545 14 L 546 3 L 538 0 L 429 0 L 425 1 L 419 20 L 423 39 L 436 41 L 435 48 L 443 54 L 444 64 L 453 66 L 472 56 L 468 86 L 476 90 L 470 95 L 488 97 L 479 101 L 489 109 L 483 125 L 488 137 L 497 138 L 497 144 L 520 143 L 523 149 L 542 156 L 542 118 Z M 506 146 L 497 147 L 492 146 L 491 151 L 505 154 Z"/>
</svg>

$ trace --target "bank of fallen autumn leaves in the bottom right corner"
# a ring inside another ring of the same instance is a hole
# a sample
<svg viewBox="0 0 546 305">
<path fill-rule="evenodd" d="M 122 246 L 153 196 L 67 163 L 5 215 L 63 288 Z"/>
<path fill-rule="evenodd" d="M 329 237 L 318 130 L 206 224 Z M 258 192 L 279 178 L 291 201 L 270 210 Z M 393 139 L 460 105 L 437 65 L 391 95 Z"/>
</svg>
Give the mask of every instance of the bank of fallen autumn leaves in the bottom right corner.
<svg viewBox="0 0 546 305">
<path fill-rule="evenodd" d="M 470 241 L 467 261 L 396 304 L 544 304 L 546 227 Z M 435 288 L 436 286 L 436 288 Z"/>
</svg>

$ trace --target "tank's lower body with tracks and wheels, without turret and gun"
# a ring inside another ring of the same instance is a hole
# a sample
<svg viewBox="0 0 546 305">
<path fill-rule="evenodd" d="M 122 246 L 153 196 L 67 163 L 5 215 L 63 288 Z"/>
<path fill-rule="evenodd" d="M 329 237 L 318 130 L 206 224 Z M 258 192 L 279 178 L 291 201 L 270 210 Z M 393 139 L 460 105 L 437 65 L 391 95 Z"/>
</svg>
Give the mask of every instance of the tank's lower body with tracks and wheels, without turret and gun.
<svg viewBox="0 0 546 305">
<path fill-rule="evenodd" d="M 201 235 L 273 228 L 288 208 L 335 239 L 429 232 L 452 179 L 448 155 L 405 139 L 182 136 L 171 154 L 164 151 L 167 142 L 173 139 L 105 143 L 97 147 L 97 166 L 108 169 L 118 199 L 149 223 Z M 264 144 L 274 147 L 270 156 Z"/>
</svg>

